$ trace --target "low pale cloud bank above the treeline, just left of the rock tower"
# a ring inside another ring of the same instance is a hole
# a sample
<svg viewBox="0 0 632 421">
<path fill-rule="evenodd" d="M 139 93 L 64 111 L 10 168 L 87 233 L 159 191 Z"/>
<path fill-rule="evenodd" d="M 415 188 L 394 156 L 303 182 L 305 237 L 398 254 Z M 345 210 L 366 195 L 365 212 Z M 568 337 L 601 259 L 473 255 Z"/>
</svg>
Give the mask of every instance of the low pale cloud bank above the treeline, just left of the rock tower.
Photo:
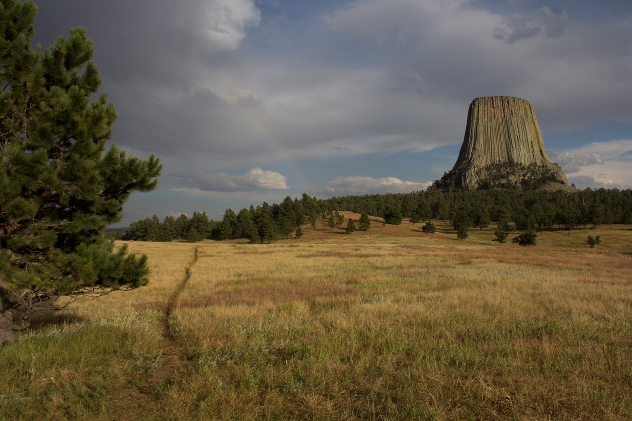
<svg viewBox="0 0 632 421">
<path fill-rule="evenodd" d="M 425 190 L 432 182 L 401 181 L 397 177 L 338 177 L 327 182 L 327 186 L 320 191 L 324 197 L 352 196 L 362 194 L 410 193 Z"/>
</svg>

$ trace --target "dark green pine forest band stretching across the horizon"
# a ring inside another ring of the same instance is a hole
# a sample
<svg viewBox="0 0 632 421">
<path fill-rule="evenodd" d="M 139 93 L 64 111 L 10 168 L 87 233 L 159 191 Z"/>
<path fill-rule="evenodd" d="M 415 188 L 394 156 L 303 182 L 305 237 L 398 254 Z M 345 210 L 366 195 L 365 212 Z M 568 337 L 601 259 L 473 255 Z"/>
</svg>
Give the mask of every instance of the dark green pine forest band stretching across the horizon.
<svg viewBox="0 0 632 421">
<path fill-rule="evenodd" d="M 365 194 L 329 199 L 303 193 L 282 203 L 262 203 L 235 213 L 227 209 L 221 221 L 194 212 L 191 217 L 157 215 L 130 224 L 125 240 L 196 242 L 202 239 L 248 239 L 253 243 L 273 242 L 279 236 L 300 236 L 301 226 L 315 227 L 317 218 L 329 218 L 331 228 L 343 225 L 338 211 L 351 211 L 384 218 L 385 223 L 451 220 L 455 229 L 487 227 L 491 222 L 512 222 L 519 230 L 571 230 L 601 224 L 632 223 L 632 191 L 584 189 L 575 193 L 521 189 L 441 191 L 428 189 L 411 193 Z M 353 223 L 353 221 L 351 222 Z"/>
</svg>

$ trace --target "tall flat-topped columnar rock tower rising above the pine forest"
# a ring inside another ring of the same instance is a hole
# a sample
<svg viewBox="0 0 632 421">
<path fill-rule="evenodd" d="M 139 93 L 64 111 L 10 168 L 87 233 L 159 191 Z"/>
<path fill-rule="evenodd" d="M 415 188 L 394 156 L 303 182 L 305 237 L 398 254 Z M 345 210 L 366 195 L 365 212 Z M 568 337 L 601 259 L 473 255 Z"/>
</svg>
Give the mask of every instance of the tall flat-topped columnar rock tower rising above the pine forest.
<svg viewBox="0 0 632 421">
<path fill-rule="evenodd" d="M 561 167 L 544 150 L 533 106 L 516 97 L 475 98 L 459 157 L 434 188 L 569 189 Z"/>
</svg>

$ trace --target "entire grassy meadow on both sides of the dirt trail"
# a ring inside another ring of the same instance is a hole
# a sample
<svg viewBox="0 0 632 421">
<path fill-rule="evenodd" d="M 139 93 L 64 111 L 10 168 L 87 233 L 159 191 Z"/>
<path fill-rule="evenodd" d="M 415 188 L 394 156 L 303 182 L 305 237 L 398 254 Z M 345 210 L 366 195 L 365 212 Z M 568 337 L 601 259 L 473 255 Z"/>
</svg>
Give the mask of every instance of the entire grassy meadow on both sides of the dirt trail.
<svg viewBox="0 0 632 421">
<path fill-rule="evenodd" d="M 0 419 L 632 418 L 631 226 L 436 223 L 131 243 L 148 287 L 0 348 Z"/>
</svg>

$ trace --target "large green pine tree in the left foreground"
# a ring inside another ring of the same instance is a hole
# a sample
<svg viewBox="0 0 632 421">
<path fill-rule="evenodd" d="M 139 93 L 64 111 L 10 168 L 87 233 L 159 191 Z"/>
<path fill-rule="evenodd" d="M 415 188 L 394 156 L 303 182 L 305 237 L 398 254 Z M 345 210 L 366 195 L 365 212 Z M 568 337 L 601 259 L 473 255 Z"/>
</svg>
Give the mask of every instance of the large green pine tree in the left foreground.
<svg viewBox="0 0 632 421">
<path fill-rule="evenodd" d="M 37 8 L 0 3 L 0 342 L 36 312 L 72 299 L 146 285 L 147 258 L 104 237 L 134 191 L 161 165 L 112 145 L 117 114 L 83 28 L 31 48 Z M 96 98 L 90 102 L 91 98 Z"/>
</svg>

